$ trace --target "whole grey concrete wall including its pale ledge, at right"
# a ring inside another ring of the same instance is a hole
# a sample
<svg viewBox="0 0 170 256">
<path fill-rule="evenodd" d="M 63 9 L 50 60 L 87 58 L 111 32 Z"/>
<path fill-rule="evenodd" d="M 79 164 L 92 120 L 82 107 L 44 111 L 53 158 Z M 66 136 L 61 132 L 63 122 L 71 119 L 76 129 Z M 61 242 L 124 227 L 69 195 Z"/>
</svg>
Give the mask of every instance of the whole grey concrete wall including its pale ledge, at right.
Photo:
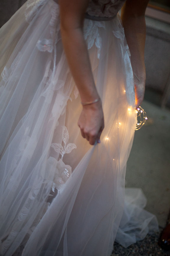
<svg viewBox="0 0 170 256">
<path fill-rule="evenodd" d="M 163 96 L 160 104 L 165 100 L 169 105 L 170 24 L 146 17 L 146 25 L 146 87 L 159 91 Z"/>
</svg>

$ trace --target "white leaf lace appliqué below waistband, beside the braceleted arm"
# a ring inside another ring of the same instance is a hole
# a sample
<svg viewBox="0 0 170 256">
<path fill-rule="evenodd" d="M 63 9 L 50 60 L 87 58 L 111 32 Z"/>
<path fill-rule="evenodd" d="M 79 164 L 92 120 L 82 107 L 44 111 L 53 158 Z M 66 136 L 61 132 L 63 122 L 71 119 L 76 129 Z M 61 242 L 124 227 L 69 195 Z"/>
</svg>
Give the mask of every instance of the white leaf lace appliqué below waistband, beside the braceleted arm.
<svg viewBox="0 0 170 256">
<path fill-rule="evenodd" d="M 102 38 L 99 35 L 99 29 L 98 28 L 104 28 L 105 29 L 104 22 L 92 21 L 92 20 L 88 20 L 87 22 L 85 22 L 85 25 L 84 25 L 84 39 L 87 42 L 88 49 L 90 49 L 93 46 L 94 42 L 95 42 L 95 45 L 97 47 L 97 58 L 99 59 L 100 51 L 101 51 L 101 47 L 102 47 Z"/>
</svg>

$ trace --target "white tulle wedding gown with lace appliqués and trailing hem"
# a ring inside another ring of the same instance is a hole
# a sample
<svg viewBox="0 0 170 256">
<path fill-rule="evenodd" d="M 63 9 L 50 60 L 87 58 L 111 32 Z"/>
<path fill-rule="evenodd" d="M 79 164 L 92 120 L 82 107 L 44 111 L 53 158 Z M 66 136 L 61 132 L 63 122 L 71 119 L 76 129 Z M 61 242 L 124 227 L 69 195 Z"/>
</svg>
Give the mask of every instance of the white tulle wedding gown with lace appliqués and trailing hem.
<svg viewBox="0 0 170 256">
<path fill-rule="evenodd" d="M 58 3 L 28 0 L 0 30 L 0 255 L 109 256 L 157 229 L 140 189 L 124 206 L 136 112 L 123 3 L 90 1 L 84 21 L 105 118 L 95 146 L 77 126 Z"/>
</svg>

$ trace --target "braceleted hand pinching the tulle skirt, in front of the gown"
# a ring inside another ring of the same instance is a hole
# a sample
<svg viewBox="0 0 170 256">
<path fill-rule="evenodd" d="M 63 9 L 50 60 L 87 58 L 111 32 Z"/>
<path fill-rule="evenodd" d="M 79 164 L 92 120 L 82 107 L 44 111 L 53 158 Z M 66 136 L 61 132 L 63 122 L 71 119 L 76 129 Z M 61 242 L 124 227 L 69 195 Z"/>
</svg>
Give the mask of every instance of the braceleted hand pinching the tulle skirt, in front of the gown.
<svg viewBox="0 0 170 256">
<path fill-rule="evenodd" d="M 86 138 L 91 145 L 94 145 L 96 141 L 100 143 L 100 135 L 104 129 L 101 101 L 83 106 L 78 126 L 80 127 L 82 137 Z"/>
</svg>

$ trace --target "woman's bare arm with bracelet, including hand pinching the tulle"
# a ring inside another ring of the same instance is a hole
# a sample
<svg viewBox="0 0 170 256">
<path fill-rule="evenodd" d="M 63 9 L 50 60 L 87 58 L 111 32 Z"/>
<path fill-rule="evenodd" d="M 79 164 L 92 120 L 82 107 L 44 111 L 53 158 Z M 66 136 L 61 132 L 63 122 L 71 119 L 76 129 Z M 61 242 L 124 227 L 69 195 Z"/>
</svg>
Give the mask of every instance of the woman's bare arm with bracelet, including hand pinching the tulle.
<svg viewBox="0 0 170 256">
<path fill-rule="evenodd" d="M 71 73 L 82 102 L 99 99 L 83 36 L 84 13 L 89 0 L 59 0 L 61 36 Z M 83 106 L 78 125 L 91 145 L 99 142 L 104 128 L 101 101 Z"/>
</svg>

